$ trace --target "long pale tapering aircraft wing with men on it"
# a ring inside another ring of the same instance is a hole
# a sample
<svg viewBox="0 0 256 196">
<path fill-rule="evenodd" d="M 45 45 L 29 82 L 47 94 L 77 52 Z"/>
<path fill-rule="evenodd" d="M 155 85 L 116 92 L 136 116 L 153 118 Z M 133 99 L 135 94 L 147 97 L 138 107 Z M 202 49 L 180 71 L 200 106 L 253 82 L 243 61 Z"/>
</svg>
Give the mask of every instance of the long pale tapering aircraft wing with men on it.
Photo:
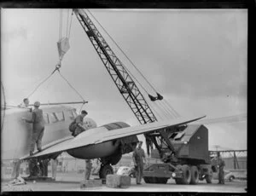
<svg viewBox="0 0 256 196">
<path fill-rule="evenodd" d="M 118 130 L 108 130 L 108 131 L 106 131 L 105 127 L 98 127 L 96 129 L 91 129 L 90 135 L 86 133 L 88 131 L 86 130 L 83 133 L 74 137 L 73 139 L 59 142 L 55 146 L 48 147 L 45 150 L 43 147 L 42 152 L 36 153 L 32 157 L 41 157 L 41 156 L 45 156 L 53 153 L 61 153 L 74 148 L 94 145 L 94 144 L 102 143 L 105 141 L 112 141 L 112 140 L 123 138 L 126 136 L 145 134 L 145 133 L 149 133 L 157 130 L 162 130 L 164 128 L 169 128 L 172 126 L 188 124 L 195 120 L 205 118 L 205 117 L 206 116 L 201 116 L 197 118 L 175 118 L 175 119 L 169 119 L 169 120 L 160 121 L 160 122 L 142 124 L 142 125 L 126 127 Z M 93 132 L 94 130 L 96 132 Z M 32 157 L 29 157 L 29 158 L 32 158 Z"/>
</svg>

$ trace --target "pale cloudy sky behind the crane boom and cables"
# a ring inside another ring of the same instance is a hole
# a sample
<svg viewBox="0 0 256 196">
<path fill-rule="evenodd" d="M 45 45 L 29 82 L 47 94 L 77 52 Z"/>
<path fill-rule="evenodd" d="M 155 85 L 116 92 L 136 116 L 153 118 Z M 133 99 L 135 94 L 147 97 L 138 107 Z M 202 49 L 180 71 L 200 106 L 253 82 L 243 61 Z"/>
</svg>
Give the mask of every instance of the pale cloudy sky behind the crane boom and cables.
<svg viewBox="0 0 256 196">
<path fill-rule="evenodd" d="M 90 12 L 180 115 L 221 118 L 247 113 L 246 9 L 90 9 Z M 2 10 L 1 77 L 8 105 L 20 104 L 55 69 L 59 16 L 59 9 Z M 63 16 L 66 35 L 67 9 L 63 10 Z M 120 61 L 153 94 L 106 33 L 102 35 Z M 69 42 L 71 48 L 62 61 L 61 74 L 89 101 L 84 107 L 89 117 L 98 125 L 114 121 L 139 124 L 75 15 Z M 148 95 L 144 92 L 143 95 L 150 102 Z M 56 73 L 30 101 L 81 100 Z M 150 103 L 150 106 L 159 105 Z M 210 149 L 214 145 L 247 149 L 247 121 L 206 126 Z"/>
</svg>

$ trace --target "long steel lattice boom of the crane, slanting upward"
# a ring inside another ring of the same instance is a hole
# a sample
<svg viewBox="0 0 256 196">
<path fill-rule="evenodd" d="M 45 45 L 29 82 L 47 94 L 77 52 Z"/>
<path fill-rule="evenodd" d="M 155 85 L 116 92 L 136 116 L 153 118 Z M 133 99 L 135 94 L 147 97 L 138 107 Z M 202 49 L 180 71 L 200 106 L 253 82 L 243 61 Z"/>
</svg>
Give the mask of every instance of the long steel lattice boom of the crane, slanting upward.
<svg viewBox="0 0 256 196">
<path fill-rule="evenodd" d="M 90 38 L 90 42 L 96 49 L 104 66 L 107 68 L 113 82 L 116 84 L 119 92 L 125 98 L 125 101 L 136 115 L 141 124 L 147 124 L 157 121 L 154 113 L 148 106 L 142 93 L 132 80 L 129 73 L 125 70 L 119 58 L 110 49 L 108 43 L 102 37 L 101 33 L 96 29 L 89 16 L 82 9 L 73 9 L 79 23 L 84 28 L 84 32 Z"/>
</svg>

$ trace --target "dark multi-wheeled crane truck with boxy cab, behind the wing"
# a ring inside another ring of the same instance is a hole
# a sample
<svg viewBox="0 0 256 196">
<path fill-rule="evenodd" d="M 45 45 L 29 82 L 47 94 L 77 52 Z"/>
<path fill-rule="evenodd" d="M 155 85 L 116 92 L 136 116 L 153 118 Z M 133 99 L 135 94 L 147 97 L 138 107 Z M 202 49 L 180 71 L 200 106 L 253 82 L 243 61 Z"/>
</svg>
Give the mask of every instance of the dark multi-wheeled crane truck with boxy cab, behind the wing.
<svg viewBox="0 0 256 196">
<path fill-rule="evenodd" d="M 177 184 L 197 184 L 203 180 L 212 183 L 212 171 L 216 166 L 211 164 L 208 153 L 207 127 L 188 124 L 166 133 L 169 142 L 160 141 L 158 149 L 151 153 L 152 158 L 160 158 L 163 164 L 148 165 L 143 170 L 144 182 L 166 183 L 173 178 Z"/>
</svg>

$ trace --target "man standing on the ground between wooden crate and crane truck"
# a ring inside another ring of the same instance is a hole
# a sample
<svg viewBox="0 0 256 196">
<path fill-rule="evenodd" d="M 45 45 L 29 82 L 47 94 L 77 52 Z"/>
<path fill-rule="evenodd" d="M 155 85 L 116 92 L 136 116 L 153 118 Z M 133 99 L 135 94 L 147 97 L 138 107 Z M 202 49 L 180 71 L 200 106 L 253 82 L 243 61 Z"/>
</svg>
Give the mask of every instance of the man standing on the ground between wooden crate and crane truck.
<svg viewBox="0 0 256 196">
<path fill-rule="evenodd" d="M 132 159 L 134 162 L 136 170 L 136 182 L 141 184 L 143 178 L 143 164 L 146 163 L 145 152 L 142 148 L 143 141 L 138 142 L 138 147 L 134 150 L 132 154 Z M 143 163 L 144 161 L 144 163 Z"/>
</svg>

